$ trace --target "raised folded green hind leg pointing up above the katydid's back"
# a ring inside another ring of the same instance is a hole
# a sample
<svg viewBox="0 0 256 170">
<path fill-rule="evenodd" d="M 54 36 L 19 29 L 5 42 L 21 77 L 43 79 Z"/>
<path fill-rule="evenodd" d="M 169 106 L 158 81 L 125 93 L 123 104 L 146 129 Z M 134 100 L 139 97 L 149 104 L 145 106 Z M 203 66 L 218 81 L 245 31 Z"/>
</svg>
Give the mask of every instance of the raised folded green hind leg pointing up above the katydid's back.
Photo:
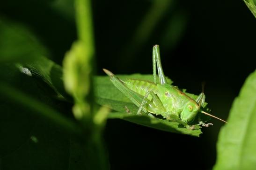
<svg viewBox="0 0 256 170">
<path fill-rule="evenodd" d="M 164 76 L 163 69 L 162 69 L 162 65 L 161 65 L 159 45 L 154 45 L 154 47 L 153 47 L 153 76 L 154 76 L 155 83 L 156 83 L 156 65 L 157 65 L 159 82 L 161 84 L 167 83 L 165 76 Z"/>
</svg>

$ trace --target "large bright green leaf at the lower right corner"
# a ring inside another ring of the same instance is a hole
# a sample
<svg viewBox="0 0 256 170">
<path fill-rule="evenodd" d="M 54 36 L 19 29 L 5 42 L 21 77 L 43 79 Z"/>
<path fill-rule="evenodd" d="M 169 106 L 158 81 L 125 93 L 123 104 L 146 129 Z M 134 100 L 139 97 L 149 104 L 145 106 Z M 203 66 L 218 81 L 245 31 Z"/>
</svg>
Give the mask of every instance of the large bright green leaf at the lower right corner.
<svg viewBox="0 0 256 170">
<path fill-rule="evenodd" d="M 214 170 L 254 170 L 256 167 L 256 71 L 234 100 L 219 133 Z"/>
</svg>

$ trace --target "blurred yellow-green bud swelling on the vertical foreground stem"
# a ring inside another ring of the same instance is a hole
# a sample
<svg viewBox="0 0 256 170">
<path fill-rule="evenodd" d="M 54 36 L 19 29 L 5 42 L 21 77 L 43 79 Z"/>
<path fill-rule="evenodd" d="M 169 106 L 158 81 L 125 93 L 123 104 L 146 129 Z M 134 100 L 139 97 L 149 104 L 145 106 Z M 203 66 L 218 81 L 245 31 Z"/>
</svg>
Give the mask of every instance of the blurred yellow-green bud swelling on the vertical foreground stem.
<svg viewBox="0 0 256 170">
<path fill-rule="evenodd" d="M 89 77 L 92 72 L 91 54 L 88 54 L 84 47 L 86 46 L 81 41 L 74 43 L 63 61 L 64 85 L 66 91 L 73 95 L 75 101 L 73 113 L 77 119 L 90 119 L 92 116 L 89 101 L 93 101 L 93 99 L 87 99 L 89 90 L 92 88 Z"/>
</svg>

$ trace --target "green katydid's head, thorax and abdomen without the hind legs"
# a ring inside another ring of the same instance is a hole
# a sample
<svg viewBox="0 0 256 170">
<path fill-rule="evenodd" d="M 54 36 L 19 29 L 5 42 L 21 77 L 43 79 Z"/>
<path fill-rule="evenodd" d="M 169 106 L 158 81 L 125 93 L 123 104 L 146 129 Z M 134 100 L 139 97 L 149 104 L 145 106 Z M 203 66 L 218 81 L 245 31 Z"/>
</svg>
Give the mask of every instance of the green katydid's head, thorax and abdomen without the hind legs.
<svg viewBox="0 0 256 170">
<path fill-rule="evenodd" d="M 124 84 L 142 96 L 145 96 L 148 91 L 156 94 L 163 107 L 156 107 L 154 101 L 151 102 L 151 95 L 147 96 L 144 107 L 149 113 L 162 115 L 169 120 L 177 120 L 180 117 L 183 122 L 191 122 L 200 109 L 197 102 L 175 86 L 169 84 L 161 85 L 154 82 L 132 79 L 125 81 Z"/>
</svg>

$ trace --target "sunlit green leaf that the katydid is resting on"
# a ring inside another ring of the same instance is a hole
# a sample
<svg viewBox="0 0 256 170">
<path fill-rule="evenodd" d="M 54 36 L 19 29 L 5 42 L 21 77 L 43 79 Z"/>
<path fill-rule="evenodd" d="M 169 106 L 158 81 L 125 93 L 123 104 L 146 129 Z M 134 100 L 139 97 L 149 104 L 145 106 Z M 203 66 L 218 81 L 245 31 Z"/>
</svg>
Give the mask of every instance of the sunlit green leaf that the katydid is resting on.
<svg viewBox="0 0 256 170">
<path fill-rule="evenodd" d="M 129 78 L 141 79 L 153 81 L 152 75 L 117 75 L 120 79 L 125 80 Z M 168 83 L 171 80 L 168 79 Z M 110 113 L 109 118 L 120 118 L 126 121 L 134 122 L 147 127 L 165 130 L 169 132 L 188 134 L 192 136 L 199 136 L 201 130 L 199 126 L 197 129 L 189 130 L 179 125 L 177 122 L 170 122 L 165 119 L 151 117 L 151 116 L 137 116 L 138 107 L 134 105 L 126 96 L 124 96 L 109 80 L 108 76 L 96 76 L 94 81 L 95 86 L 95 100 L 101 105 L 105 105 L 115 110 L 115 112 Z M 196 95 L 194 95 L 196 96 Z M 127 107 L 125 109 L 124 107 Z M 128 113 L 127 113 L 128 112 Z"/>
</svg>

